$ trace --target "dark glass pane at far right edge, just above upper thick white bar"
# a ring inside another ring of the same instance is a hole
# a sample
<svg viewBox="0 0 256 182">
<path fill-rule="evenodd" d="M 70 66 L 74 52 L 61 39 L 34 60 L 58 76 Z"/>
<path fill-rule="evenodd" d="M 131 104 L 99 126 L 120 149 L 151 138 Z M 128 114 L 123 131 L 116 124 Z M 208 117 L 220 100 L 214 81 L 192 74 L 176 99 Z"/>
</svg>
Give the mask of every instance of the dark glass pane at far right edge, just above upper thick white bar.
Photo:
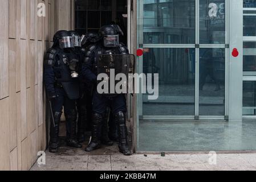
<svg viewBox="0 0 256 182">
<path fill-rule="evenodd" d="M 243 36 L 256 36 L 256 16 L 243 16 Z"/>
</svg>

